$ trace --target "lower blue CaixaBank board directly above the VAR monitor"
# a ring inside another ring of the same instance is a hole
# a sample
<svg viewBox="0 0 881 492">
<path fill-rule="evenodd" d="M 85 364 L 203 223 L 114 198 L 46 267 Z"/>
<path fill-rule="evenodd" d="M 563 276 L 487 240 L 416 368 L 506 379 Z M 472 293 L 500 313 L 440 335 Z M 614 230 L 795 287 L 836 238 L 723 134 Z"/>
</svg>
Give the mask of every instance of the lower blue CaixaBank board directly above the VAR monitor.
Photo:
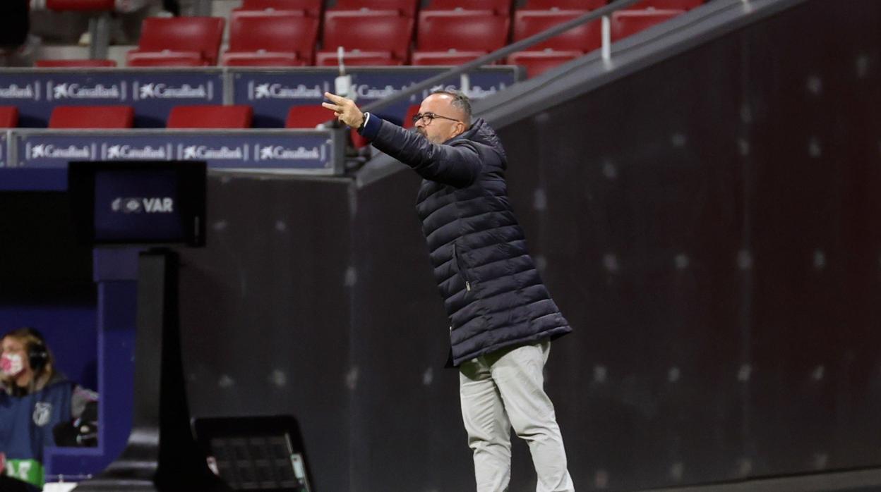
<svg viewBox="0 0 881 492">
<path fill-rule="evenodd" d="M 73 160 L 204 160 L 210 169 L 335 174 L 342 130 L 156 130 L 10 132 L 0 190 L 64 189 Z"/>
</svg>

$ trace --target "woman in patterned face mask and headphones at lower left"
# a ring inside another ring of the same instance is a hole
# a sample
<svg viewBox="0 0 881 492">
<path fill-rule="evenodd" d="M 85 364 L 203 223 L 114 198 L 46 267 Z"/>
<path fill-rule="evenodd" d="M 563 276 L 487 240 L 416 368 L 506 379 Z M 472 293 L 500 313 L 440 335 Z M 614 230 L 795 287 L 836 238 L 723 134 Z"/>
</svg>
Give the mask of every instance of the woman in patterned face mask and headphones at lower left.
<svg viewBox="0 0 881 492">
<path fill-rule="evenodd" d="M 12 330 L 0 343 L 0 453 L 7 475 L 41 488 L 43 447 L 56 445 L 53 429 L 70 428 L 84 414 L 97 414 L 98 394 L 56 371 L 37 330 Z"/>
</svg>

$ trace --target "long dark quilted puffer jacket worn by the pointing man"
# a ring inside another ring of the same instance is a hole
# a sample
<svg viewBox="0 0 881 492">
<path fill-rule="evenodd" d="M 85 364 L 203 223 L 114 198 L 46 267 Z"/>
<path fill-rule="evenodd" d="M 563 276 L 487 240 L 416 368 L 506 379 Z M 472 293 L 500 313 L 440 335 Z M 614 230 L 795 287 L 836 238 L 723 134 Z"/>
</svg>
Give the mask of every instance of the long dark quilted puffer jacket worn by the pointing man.
<svg viewBox="0 0 881 492">
<path fill-rule="evenodd" d="M 453 365 L 572 331 L 507 198 L 505 151 L 483 120 L 437 145 L 371 115 L 361 134 L 425 180 L 416 210 L 450 319 Z"/>
</svg>

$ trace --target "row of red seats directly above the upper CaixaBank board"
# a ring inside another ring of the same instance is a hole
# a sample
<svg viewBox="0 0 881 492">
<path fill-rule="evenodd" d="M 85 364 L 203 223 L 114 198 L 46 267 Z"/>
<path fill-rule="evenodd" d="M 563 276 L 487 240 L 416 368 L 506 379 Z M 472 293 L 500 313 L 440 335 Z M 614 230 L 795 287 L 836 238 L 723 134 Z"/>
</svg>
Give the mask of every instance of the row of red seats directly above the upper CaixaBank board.
<svg viewBox="0 0 881 492">
<path fill-rule="evenodd" d="M 671 18 L 682 11 L 616 11 L 612 40 Z M 514 40 L 522 40 L 583 11 L 517 11 Z M 319 19 L 285 11 L 233 13 L 225 65 L 302 66 L 337 64 L 337 47 L 358 65 L 411 62 L 414 20 L 395 11 L 334 11 L 325 19 L 322 46 L 315 51 Z M 218 61 L 223 18 L 147 18 L 130 66 L 205 66 Z M 423 11 L 418 18 L 413 64 L 456 64 L 474 60 L 507 44 L 510 19 L 492 11 Z M 577 26 L 530 51 L 587 53 L 600 46 L 599 22 Z M 179 48 L 186 47 L 186 50 Z"/>
</svg>

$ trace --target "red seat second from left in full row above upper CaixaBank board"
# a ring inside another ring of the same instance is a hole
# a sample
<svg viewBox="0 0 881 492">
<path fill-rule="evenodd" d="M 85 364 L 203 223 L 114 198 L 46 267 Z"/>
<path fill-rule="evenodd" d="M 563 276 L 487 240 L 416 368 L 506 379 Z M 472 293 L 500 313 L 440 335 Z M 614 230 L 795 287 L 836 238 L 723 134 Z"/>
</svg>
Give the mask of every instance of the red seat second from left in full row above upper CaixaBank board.
<svg viewBox="0 0 881 492">
<path fill-rule="evenodd" d="M 311 65 L 318 18 L 282 13 L 233 13 L 224 65 Z"/>
</svg>

